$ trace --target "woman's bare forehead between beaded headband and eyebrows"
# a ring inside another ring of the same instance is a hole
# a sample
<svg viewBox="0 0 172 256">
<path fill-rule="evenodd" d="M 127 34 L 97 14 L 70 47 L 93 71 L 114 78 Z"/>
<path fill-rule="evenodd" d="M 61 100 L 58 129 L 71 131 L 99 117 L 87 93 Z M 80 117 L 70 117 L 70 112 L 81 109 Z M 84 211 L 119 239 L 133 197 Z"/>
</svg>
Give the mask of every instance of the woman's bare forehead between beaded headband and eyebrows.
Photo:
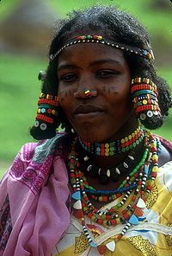
<svg viewBox="0 0 172 256">
<path fill-rule="evenodd" d="M 65 48 L 58 56 L 58 64 L 70 61 L 98 61 L 109 58 L 119 61 L 121 64 L 126 63 L 126 58 L 122 50 L 100 43 L 84 42 Z"/>
</svg>

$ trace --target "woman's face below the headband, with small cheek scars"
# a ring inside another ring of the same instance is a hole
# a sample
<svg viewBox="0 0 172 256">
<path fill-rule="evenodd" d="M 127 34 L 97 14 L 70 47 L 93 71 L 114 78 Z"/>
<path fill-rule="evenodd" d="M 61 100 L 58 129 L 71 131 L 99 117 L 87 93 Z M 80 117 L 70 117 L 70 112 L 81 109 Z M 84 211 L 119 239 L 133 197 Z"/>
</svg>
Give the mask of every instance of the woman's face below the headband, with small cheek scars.
<svg viewBox="0 0 172 256">
<path fill-rule="evenodd" d="M 81 43 L 59 55 L 59 104 L 83 140 L 118 138 L 131 117 L 130 85 L 130 70 L 121 50 Z M 87 89 L 93 90 L 93 97 L 84 96 Z"/>
</svg>

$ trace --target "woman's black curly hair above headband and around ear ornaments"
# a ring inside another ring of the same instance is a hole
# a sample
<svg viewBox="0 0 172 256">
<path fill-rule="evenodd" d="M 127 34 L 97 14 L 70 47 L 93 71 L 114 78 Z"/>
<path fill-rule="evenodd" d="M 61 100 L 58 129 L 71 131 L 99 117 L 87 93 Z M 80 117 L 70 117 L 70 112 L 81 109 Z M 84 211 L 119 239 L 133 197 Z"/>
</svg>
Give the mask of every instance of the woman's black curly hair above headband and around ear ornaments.
<svg viewBox="0 0 172 256">
<path fill-rule="evenodd" d="M 90 35 L 92 31 L 131 47 L 148 48 L 150 45 L 150 35 L 136 18 L 114 6 L 96 5 L 89 9 L 75 10 L 67 18 L 57 23 L 49 56 L 56 54 L 58 49 L 62 48 L 73 35 Z M 157 76 L 154 61 L 126 51 L 124 51 L 124 56 L 130 67 L 132 78 L 147 77 L 157 85 L 161 115 L 144 122 L 146 128 L 157 129 L 163 125 L 164 117 L 168 115 L 171 106 L 169 86 L 163 78 Z M 49 62 L 42 84 L 42 93 L 58 94 L 57 64 L 58 57 Z M 60 107 L 58 107 L 58 118 L 54 121 L 53 125 L 47 125 L 45 131 L 33 126 L 30 131 L 31 135 L 36 139 L 52 138 L 59 125 L 64 127 L 65 131 L 71 132 L 71 124 L 65 118 Z"/>
</svg>

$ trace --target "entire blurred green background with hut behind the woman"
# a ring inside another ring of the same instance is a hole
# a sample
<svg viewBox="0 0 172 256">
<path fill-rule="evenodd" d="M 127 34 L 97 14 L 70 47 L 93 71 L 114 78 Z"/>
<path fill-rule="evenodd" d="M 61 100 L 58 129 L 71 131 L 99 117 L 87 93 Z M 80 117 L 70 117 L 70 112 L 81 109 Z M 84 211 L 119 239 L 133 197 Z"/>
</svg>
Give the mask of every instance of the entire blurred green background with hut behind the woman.
<svg viewBox="0 0 172 256">
<path fill-rule="evenodd" d="M 152 35 L 158 74 L 172 86 L 172 3 L 168 0 L 4 0 L 0 2 L 0 171 L 12 163 L 22 144 L 33 141 L 40 94 L 37 76 L 47 64 L 53 22 L 74 9 L 109 3 L 137 16 Z M 156 132 L 172 140 L 171 113 Z"/>
</svg>

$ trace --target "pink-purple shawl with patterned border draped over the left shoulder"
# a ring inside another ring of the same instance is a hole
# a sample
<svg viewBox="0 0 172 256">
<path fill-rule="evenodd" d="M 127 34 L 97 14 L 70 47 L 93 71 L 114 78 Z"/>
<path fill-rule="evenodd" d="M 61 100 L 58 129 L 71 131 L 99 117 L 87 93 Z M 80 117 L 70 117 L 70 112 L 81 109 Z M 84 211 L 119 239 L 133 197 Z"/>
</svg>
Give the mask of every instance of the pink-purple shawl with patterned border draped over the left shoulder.
<svg viewBox="0 0 172 256">
<path fill-rule="evenodd" d="M 53 157 L 58 138 L 25 144 L 3 177 L 0 255 L 50 256 L 69 226 L 67 170 Z"/>
</svg>

